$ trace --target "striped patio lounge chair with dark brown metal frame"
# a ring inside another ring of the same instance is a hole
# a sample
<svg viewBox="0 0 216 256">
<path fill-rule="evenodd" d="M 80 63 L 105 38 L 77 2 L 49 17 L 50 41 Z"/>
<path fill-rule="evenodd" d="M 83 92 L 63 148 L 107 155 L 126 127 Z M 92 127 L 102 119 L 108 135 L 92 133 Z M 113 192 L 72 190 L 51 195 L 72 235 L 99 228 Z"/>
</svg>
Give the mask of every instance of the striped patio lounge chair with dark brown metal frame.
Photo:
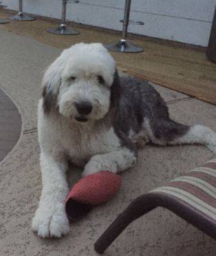
<svg viewBox="0 0 216 256">
<path fill-rule="evenodd" d="M 158 206 L 216 239 L 216 158 L 133 200 L 100 236 L 95 250 L 103 253 L 133 220 Z"/>
</svg>

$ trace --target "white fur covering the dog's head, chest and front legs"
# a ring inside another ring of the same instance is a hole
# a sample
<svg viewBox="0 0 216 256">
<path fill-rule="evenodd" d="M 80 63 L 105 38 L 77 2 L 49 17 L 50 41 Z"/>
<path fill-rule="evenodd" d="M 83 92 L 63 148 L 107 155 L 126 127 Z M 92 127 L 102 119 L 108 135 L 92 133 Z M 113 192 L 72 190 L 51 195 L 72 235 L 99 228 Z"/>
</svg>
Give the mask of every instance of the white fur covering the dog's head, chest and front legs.
<svg viewBox="0 0 216 256">
<path fill-rule="evenodd" d="M 122 147 L 114 129 L 104 117 L 110 105 L 110 87 L 116 65 L 101 44 L 78 44 L 65 50 L 50 65 L 43 87 L 57 95 L 58 111 L 48 116 L 39 102 L 39 143 L 43 189 L 32 220 L 32 229 L 41 237 L 61 237 L 69 231 L 65 213 L 68 187 L 65 177 L 69 156 L 74 164 L 85 166 L 83 175 L 98 171 L 123 171 L 136 161 L 129 149 Z M 98 83 L 101 75 L 105 85 Z M 69 78 L 76 76 L 75 81 Z M 85 123 L 76 122 L 74 103 L 87 101 L 93 110 Z M 85 165 L 86 164 L 86 165 Z"/>
</svg>

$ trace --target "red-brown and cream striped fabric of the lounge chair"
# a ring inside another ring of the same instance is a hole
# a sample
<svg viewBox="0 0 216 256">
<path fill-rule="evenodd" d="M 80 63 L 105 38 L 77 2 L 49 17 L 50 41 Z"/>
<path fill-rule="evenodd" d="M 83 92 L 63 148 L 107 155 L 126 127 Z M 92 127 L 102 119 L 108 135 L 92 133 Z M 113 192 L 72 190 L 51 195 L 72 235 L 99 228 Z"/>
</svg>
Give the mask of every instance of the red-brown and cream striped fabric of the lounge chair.
<svg viewBox="0 0 216 256">
<path fill-rule="evenodd" d="M 151 193 L 169 195 L 180 200 L 184 207 L 216 222 L 216 158 Z"/>
</svg>

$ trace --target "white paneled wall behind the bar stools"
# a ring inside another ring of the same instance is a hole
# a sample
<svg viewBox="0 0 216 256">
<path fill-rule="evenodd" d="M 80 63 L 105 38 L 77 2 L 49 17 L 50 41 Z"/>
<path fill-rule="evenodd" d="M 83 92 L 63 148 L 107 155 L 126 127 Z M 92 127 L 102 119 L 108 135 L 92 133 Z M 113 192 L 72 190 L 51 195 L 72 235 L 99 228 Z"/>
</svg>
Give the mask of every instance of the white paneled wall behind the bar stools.
<svg viewBox="0 0 216 256">
<path fill-rule="evenodd" d="M 19 0 L 2 0 L 17 10 Z M 132 0 L 129 32 L 194 45 L 208 45 L 216 0 Z M 80 0 L 68 3 L 67 19 L 122 30 L 125 0 Z M 46 17 L 61 17 L 61 0 L 23 0 L 23 10 Z"/>
</svg>

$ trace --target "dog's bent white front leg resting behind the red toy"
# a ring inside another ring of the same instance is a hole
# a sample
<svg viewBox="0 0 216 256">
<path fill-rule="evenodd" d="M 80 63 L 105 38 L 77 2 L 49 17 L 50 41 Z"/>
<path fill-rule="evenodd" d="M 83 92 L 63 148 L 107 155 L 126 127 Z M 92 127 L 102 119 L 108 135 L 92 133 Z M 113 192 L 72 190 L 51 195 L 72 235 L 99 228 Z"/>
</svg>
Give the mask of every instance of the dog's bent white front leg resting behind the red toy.
<svg viewBox="0 0 216 256">
<path fill-rule="evenodd" d="M 102 155 L 93 156 L 85 165 L 84 176 L 98 173 L 99 171 L 111 171 L 117 173 L 132 167 L 136 162 L 136 153 L 125 148 Z"/>
</svg>

